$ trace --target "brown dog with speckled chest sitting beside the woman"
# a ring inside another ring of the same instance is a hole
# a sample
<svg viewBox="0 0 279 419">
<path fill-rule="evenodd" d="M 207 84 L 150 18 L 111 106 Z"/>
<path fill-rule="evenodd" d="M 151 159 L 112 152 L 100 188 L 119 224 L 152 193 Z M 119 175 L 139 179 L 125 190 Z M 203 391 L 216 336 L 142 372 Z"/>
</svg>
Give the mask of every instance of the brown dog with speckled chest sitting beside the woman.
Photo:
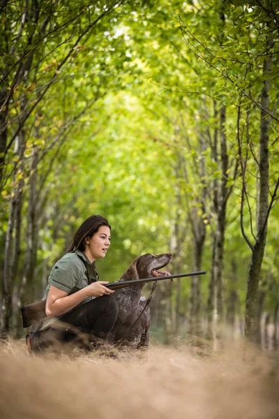
<svg viewBox="0 0 279 419">
<path fill-rule="evenodd" d="M 167 265 L 171 258 L 171 253 L 157 256 L 146 253 L 133 261 L 119 281 L 167 275 L 168 272 L 158 272 L 158 270 Z M 110 335 L 111 343 L 124 344 L 130 348 L 148 348 L 151 314 L 149 307 L 144 309 L 146 300 L 142 293 L 143 287 L 144 283 L 115 291 L 114 297 L 119 303 L 119 315 Z"/>
</svg>

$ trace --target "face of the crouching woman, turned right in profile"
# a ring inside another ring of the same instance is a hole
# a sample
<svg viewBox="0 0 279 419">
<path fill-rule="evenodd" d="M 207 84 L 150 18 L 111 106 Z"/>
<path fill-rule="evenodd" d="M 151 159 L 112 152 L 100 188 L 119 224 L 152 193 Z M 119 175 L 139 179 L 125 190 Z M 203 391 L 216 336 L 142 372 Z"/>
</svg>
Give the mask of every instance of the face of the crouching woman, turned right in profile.
<svg viewBox="0 0 279 419">
<path fill-rule="evenodd" d="M 110 247 L 110 227 L 100 226 L 97 233 L 86 237 L 85 250 L 87 258 L 93 263 L 94 260 L 105 258 L 105 254 Z"/>
</svg>

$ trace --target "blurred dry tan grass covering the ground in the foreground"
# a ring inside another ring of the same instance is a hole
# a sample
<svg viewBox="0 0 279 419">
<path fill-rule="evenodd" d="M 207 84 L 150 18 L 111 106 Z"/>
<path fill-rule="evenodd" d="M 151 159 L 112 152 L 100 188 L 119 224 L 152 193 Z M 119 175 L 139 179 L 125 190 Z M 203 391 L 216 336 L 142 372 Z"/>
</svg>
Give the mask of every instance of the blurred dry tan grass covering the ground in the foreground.
<svg viewBox="0 0 279 419">
<path fill-rule="evenodd" d="M 1 419 L 278 419 L 276 362 L 237 344 L 213 355 L 153 346 L 146 358 L 29 357 L 0 348 Z"/>
</svg>

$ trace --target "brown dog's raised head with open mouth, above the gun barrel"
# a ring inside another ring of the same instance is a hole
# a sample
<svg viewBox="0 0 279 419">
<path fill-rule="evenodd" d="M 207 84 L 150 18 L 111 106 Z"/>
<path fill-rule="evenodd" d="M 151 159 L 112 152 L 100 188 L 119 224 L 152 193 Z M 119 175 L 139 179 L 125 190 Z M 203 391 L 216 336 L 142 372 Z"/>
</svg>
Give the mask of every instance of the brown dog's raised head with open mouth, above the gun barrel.
<svg viewBox="0 0 279 419">
<path fill-rule="evenodd" d="M 161 255 L 153 255 L 146 253 L 136 258 L 126 271 L 125 280 L 144 279 L 153 277 L 153 272 L 158 271 L 169 263 L 172 253 L 162 253 Z"/>
</svg>

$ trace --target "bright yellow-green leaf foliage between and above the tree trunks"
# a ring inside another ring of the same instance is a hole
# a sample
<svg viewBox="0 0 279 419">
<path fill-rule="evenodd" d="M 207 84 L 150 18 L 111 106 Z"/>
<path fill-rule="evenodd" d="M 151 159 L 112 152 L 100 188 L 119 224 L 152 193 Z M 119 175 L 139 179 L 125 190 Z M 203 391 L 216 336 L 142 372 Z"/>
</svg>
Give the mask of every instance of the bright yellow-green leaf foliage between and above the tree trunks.
<svg viewBox="0 0 279 419">
<path fill-rule="evenodd" d="M 220 130 L 216 112 L 226 105 L 226 187 L 232 194 L 225 232 L 225 297 L 235 286 L 231 278 L 236 260 L 243 309 L 250 250 L 239 226 L 242 182 L 236 161 L 241 145 L 250 198 L 243 224 L 253 240 L 259 94 L 269 78 L 271 186 L 278 178 L 278 21 L 266 13 L 267 2 L 119 1 L 114 7 L 112 1 L 89 1 L 86 6 L 82 1 L 42 1 L 38 15 L 36 10 L 24 12 L 25 2 L 16 3 L 6 6 L 0 33 L 1 81 L 8 98 L 8 142 L 0 150 L 1 243 L 10 202 L 23 181 L 23 270 L 36 174 L 38 288 L 75 229 L 98 213 L 112 223 L 112 247 L 98 265 L 101 277 L 116 279 L 133 258 L 169 251 L 174 239 L 181 244 L 181 255 L 174 251 L 181 270 L 193 270 L 191 212 L 206 226 L 203 269 L 210 271 L 213 198 L 216 182 L 223 179 L 220 150 L 216 159 L 213 140 Z M 22 25 L 24 13 L 28 19 Z M 266 74 L 263 59 L 271 52 L 271 74 Z M 18 133 L 24 133 L 21 152 L 15 147 Z M 276 217 L 278 207 L 269 219 L 262 274 L 270 274 L 272 284 L 278 284 Z M 202 279 L 204 306 L 209 277 Z M 189 284 L 183 282 L 184 300 Z M 278 286 L 269 290 L 273 307 Z"/>
</svg>

